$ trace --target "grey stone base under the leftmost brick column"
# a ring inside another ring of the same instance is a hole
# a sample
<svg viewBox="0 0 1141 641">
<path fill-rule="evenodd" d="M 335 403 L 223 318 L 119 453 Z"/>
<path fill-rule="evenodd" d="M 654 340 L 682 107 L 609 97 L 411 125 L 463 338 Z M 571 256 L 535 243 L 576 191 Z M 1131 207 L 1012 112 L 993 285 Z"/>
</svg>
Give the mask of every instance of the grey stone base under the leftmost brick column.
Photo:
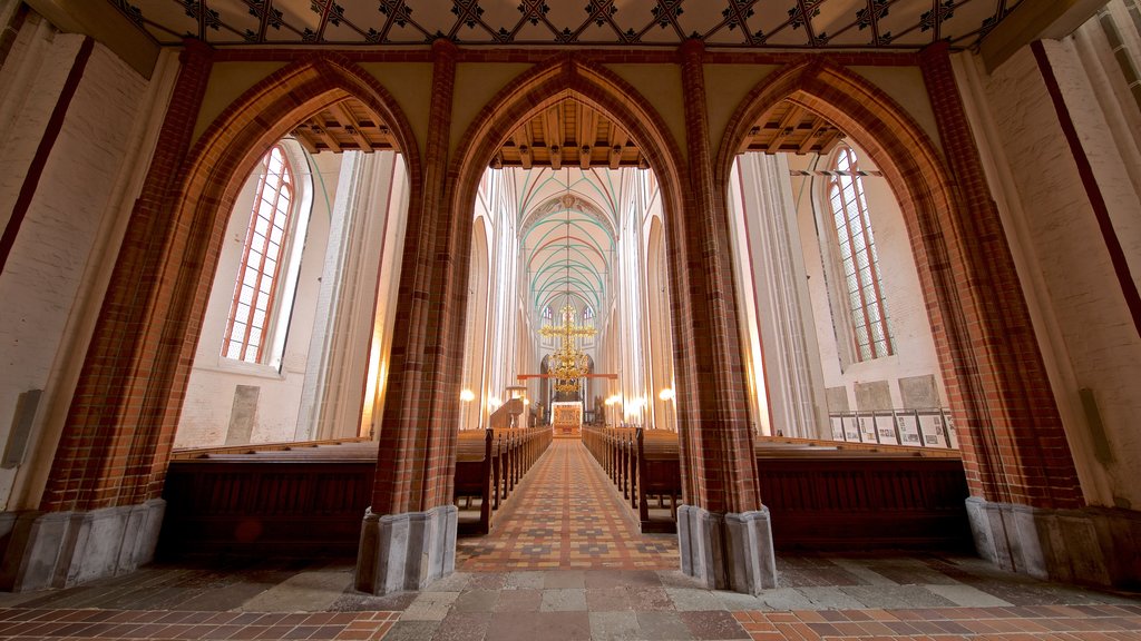
<svg viewBox="0 0 1141 641">
<path fill-rule="evenodd" d="M 87 512 L 27 511 L 0 519 L 0 590 L 71 587 L 154 559 L 167 502 Z"/>
</svg>

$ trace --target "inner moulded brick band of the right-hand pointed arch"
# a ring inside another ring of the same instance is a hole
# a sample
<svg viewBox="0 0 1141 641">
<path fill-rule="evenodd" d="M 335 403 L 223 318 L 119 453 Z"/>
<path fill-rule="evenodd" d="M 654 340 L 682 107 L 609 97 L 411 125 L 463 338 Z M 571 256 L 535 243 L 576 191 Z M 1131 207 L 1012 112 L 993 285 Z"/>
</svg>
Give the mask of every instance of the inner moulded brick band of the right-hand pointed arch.
<svg viewBox="0 0 1141 641">
<path fill-rule="evenodd" d="M 936 351 L 947 393 L 961 429 L 963 463 L 972 494 L 993 495 L 996 479 L 987 471 L 992 454 L 981 440 L 985 399 L 965 379 L 990 364 L 971 346 L 964 305 L 973 295 L 956 278 L 970 275 L 956 220 L 963 213 L 949 170 L 930 137 L 881 89 L 823 59 L 791 64 L 766 79 L 742 100 L 721 141 L 714 168 L 718 193 L 748 129 L 778 103 L 790 100 L 820 115 L 860 146 L 883 171 L 896 194 L 908 229 L 916 270 L 924 292 Z"/>
</svg>

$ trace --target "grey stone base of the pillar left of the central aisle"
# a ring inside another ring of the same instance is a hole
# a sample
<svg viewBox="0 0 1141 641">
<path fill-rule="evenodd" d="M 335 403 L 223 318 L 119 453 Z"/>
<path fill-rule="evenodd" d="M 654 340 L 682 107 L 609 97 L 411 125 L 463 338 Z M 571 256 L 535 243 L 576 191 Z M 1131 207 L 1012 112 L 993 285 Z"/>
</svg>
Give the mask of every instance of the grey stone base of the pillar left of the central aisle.
<svg viewBox="0 0 1141 641">
<path fill-rule="evenodd" d="M 365 511 L 356 589 L 373 594 L 420 590 L 455 571 L 455 505 L 427 512 Z"/>
</svg>

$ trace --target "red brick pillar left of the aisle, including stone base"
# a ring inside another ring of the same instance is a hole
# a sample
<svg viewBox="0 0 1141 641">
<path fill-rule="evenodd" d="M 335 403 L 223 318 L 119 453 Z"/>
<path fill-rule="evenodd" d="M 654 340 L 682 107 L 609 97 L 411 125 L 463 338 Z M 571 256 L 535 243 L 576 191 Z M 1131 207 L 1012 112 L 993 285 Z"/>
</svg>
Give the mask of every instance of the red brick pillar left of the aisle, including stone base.
<svg viewBox="0 0 1141 641">
<path fill-rule="evenodd" d="M 356 586 L 374 593 L 415 590 L 455 568 L 451 495 L 470 253 L 462 233 L 471 228 L 450 216 L 446 198 L 456 55 L 447 40 L 432 43 L 422 201 L 410 208 L 380 455 L 357 558 Z"/>
</svg>

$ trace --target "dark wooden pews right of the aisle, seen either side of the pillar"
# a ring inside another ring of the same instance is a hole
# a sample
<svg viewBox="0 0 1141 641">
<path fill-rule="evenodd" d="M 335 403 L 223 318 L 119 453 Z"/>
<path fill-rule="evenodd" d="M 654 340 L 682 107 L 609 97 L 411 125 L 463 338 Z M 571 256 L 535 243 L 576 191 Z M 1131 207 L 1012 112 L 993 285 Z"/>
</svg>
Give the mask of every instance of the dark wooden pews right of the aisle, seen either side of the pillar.
<svg viewBox="0 0 1141 641">
<path fill-rule="evenodd" d="M 642 532 L 675 532 L 677 435 L 588 428 L 583 441 Z M 780 549 L 969 550 L 966 481 L 957 452 L 807 439 L 760 439 L 758 485 Z M 654 501 L 669 512 L 656 510 Z"/>
</svg>

